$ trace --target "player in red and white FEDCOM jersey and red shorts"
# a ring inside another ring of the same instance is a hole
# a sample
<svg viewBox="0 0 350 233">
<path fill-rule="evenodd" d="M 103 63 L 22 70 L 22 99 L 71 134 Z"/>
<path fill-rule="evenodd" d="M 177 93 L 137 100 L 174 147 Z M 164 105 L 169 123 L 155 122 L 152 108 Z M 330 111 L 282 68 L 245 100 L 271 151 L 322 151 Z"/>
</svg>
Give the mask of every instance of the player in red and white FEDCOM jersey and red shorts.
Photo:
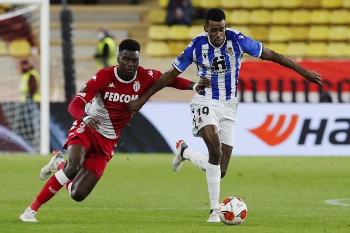
<svg viewBox="0 0 350 233">
<path fill-rule="evenodd" d="M 128 112 L 126 105 L 141 97 L 162 75 L 158 70 L 138 66 L 139 51 L 138 42 L 130 39 L 122 41 L 119 45 L 119 65 L 99 70 L 69 104 L 68 111 L 76 120 L 63 146 L 68 150 L 67 161 L 64 162 L 61 151 L 54 151 L 50 163 L 41 170 L 40 178 L 45 180 L 53 171 L 58 172 L 21 214 L 21 221 L 37 221 L 35 215 L 38 209 L 63 185 L 72 199 L 78 202 L 92 191 L 112 159 L 121 130 L 132 117 L 133 112 Z M 195 85 L 177 77 L 167 86 L 181 90 L 195 89 L 200 93 L 205 85 L 208 83 Z"/>
</svg>

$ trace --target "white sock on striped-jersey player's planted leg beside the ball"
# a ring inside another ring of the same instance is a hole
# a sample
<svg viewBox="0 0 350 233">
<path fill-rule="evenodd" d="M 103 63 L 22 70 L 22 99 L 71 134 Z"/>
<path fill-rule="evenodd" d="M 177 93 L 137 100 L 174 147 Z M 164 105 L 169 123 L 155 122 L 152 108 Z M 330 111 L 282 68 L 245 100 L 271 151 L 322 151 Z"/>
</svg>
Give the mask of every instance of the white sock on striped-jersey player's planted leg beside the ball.
<svg viewBox="0 0 350 233">
<path fill-rule="evenodd" d="M 220 165 L 206 163 L 206 182 L 208 184 L 210 208 L 219 209 L 220 196 Z"/>
</svg>

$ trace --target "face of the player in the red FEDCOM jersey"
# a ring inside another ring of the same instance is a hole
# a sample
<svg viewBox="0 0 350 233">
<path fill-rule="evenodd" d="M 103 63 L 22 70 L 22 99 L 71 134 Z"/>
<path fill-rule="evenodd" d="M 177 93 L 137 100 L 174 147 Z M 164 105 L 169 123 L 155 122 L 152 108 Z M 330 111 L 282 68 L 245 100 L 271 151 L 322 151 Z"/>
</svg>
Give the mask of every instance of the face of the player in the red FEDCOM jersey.
<svg viewBox="0 0 350 233">
<path fill-rule="evenodd" d="M 123 79 L 132 79 L 138 67 L 138 51 L 124 49 L 118 55 L 119 75 Z"/>
</svg>

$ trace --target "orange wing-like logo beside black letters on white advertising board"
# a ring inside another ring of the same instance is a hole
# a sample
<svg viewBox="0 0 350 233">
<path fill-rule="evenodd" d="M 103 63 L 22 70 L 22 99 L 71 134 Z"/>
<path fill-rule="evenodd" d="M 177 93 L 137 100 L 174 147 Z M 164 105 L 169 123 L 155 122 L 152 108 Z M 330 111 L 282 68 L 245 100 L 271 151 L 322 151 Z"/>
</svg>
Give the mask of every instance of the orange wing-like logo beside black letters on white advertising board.
<svg viewBox="0 0 350 233">
<path fill-rule="evenodd" d="M 275 146 L 275 145 L 278 145 L 279 143 L 284 142 L 292 134 L 297 124 L 298 115 L 296 114 L 292 115 L 292 119 L 287 129 L 284 132 L 279 132 L 279 131 L 281 131 L 286 121 L 286 115 L 285 114 L 279 115 L 276 125 L 272 129 L 269 129 L 272 123 L 272 119 L 273 119 L 272 114 L 267 115 L 265 122 L 261 126 L 259 126 L 256 129 L 251 129 L 249 131 L 255 134 L 255 136 L 257 136 L 264 142 L 266 142 L 268 145 Z"/>
</svg>

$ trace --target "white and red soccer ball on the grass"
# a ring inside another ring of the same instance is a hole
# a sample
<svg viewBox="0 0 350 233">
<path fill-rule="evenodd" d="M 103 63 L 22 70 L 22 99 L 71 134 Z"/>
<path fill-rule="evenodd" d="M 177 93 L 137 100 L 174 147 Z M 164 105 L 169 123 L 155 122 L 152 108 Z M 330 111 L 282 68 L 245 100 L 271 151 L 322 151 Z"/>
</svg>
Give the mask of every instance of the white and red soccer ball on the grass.
<svg viewBox="0 0 350 233">
<path fill-rule="evenodd" d="M 248 214 L 246 203 L 236 197 L 226 198 L 219 206 L 219 217 L 227 225 L 239 225 Z"/>
</svg>

